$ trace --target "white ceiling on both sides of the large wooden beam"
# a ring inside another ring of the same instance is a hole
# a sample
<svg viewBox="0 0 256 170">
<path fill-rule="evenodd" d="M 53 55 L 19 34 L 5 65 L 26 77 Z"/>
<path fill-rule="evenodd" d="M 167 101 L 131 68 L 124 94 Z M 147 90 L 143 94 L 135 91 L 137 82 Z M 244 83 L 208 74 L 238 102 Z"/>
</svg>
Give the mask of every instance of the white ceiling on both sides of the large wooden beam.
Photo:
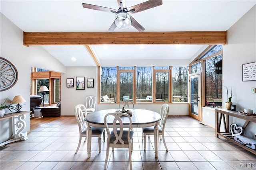
<svg viewBox="0 0 256 170">
<path fill-rule="evenodd" d="M 146 0 L 126 0 L 134 6 Z M 0 9 L 24 32 L 106 32 L 115 14 L 90 10 L 82 3 L 118 9 L 116 0 L 1 0 Z M 238 21 L 255 0 L 163 0 L 161 6 L 131 16 L 145 31 L 226 31 Z M 136 31 L 134 27 L 126 30 Z M 145 32 L 144 31 L 144 32 Z M 42 46 L 65 66 L 96 66 L 84 46 Z M 93 45 L 99 61 L 116 59 L 191 59 L 205 45 Z M 120 57 L 122 56 L 122 57 Z M 72 61 L 71 58 L 76 58 Z"/>
</svg>

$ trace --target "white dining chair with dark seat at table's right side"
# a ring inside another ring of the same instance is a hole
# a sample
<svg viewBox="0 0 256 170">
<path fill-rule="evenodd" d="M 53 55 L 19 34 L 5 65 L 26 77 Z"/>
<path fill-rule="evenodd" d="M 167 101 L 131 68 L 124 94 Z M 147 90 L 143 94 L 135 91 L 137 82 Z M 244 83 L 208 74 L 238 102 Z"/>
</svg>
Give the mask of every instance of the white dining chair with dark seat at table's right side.
<svg viewBox="0 0 256 170">
<path fill-rule="evenodd" d="M 164 143 L 164 147 L 165 147 L 166 151 L 168 151 L 168 148 L 166 146 L 165 139 L 164 139 L 164 127 L 165 127 L 165 123 L 166 123 L 168 114 L 169 114 L 169 106 L 168 106 L 168 104 L 163 104 L 160 109 L 161 119 L 159 121 L 158 128 L 159 128 L 160 140 L 163 139 L 162 141 Z M 147 135 L 154 135 L 154 127 L 153 126 L 142 128 L 142 141 L 144 139 L 144 150 L 146 150 L 146 136 Z"/>
</svg>

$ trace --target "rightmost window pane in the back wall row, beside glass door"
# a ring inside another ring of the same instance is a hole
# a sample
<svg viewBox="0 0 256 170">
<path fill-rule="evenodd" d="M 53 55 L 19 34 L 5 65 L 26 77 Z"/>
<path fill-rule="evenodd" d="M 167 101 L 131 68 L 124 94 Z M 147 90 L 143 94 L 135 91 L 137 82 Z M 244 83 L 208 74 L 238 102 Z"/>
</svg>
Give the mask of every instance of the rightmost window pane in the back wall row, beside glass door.
<svg viewBox="0 0 256 170">
<path fill-rule="evenodd" d="M 172 102 L 188 102 L 188 67 L 172 67 Z"/>
</svg>

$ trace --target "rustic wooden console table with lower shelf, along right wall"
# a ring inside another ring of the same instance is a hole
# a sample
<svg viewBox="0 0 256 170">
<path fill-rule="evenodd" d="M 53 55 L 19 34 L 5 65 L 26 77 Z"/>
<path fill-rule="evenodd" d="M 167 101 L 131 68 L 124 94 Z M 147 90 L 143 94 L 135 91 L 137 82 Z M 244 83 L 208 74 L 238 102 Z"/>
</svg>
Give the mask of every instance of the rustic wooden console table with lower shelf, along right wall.
<svg viewBox="0 0 256 170">
<path fill-rule="evenodd" d="M 220 118 L 219 118 L 219 115 L 220 115 Z M 249 147 L 246 147 L 246 146 L 236 142 L 234 140 L 234 137 L 232 137 L 231 133 L 229 133 L 229 116 L 233 116 L 233 117 L 237 117 L 237 118 L 246 120 L 244 125 L 242 126 L 243 129 L 245 129 L 250 122 L 256 123 L 256 117 L 242 115 L 242 114 L 238 113 L 238 111 L 231 111 L 231 110 L 227 110 L 227 109 L 215 109 L 215 136 L 219 137 L 219 135 L 220 135 L 220 136 L 224 137 L 225 139 L 228 139 L 229 141 L 235 143 L 236 145 L 252 152 L 253 154 L 256 154 L 256 150 L 250 149 Z M 220 132 L 220 126 L 222 123 L 222 119 L 223 119 L 223 123 L 224 123 L 224 132 Z"/>
</svg>

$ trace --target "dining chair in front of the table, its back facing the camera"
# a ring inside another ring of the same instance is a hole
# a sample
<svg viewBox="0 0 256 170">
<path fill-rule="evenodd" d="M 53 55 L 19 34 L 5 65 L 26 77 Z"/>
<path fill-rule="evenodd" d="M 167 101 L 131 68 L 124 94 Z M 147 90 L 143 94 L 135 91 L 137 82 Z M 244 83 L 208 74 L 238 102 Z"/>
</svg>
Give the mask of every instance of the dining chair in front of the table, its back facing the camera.
<svg viewBox="0 0 256 170">
<path fill-rule="evenodd" d="M 111 121 L 110 121 L 111 120 Z M 124 123 L 129 122 L 128 129 L 124 129 Z M 131 131 L 132 128 L 132 119 L 127 113 L 108 113 L 104 117 L 104 125 L 108 134 L 107 138 L 107 150 L 106 150 L 106 159 L 104 164 L 104 170 L 106 170 L 107 162 L 108 162 L 108 152 L 109 148 L 112 147 L 112 151 L 114 148 L 128 148 L 129 151 L 129 162 L 130 162 L 130 170 L 132 169 L 132 145 L 133 145 L 133 134 Z M 112 131 L 110 132 L 109 125 L 112 125 Z M 120 130 L 117 130 L 120 128 Z M 114 155 L 114 154 L 113 154 Z"/>
</svg>

